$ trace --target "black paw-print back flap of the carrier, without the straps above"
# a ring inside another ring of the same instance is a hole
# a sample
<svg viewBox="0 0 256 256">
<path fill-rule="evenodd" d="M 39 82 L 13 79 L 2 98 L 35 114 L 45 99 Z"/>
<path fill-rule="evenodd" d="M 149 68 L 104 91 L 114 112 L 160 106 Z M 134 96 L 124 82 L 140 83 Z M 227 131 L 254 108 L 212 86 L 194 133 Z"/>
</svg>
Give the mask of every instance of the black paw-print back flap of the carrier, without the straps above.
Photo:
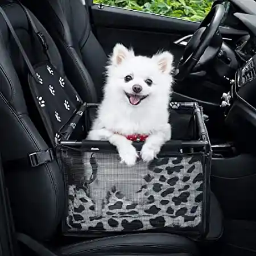
<svg viewBox="0 0 256 256">
<path fill-rule="evenodd" d="M 49 136 L 57 143 L 61 129 L 79 108 L 81 100 L 69 81 L 61 77 L 49 62 L 36 67 L 35 72 L 38 81 L 33 76 L 29 76 L 28 81 L 39 112 L 47 123 Z"/>
</svg>

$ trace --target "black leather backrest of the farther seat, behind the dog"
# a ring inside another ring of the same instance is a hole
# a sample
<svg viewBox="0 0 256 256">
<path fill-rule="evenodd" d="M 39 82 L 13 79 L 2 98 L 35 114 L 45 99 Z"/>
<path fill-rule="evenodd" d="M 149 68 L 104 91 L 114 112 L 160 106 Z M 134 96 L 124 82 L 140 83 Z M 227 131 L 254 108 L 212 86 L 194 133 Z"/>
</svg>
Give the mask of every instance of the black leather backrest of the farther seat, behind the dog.
<svg viewBox="0 0 256 256">
<path fill-rule="evenodd" d="M 81 98 L 86 102 L 100 101 L 107 57 L 92 33 L 89 15 L 81 1 L 21 2 L 36 15 L 55 40 L 65 73 Z"/>
</svg>

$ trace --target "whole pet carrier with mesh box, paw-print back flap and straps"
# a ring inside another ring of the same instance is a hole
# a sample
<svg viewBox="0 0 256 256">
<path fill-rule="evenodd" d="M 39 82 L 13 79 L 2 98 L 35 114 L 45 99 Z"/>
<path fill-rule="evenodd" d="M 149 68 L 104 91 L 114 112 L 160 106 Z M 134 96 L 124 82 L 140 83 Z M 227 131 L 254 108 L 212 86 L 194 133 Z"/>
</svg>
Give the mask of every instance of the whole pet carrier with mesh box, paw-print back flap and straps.
<svg viewBox="0 0 256 256">
<path fill-rule="evenodd" d="M 22 8 L 48 57 L 44 63 L 31 65 L 1 7 L 0 13 L 26 61 L 32 97 L 52 142 L 53 152 L 41 152 L 40 157 L 32 153 L 30 163 L 35 167 L 57 155 L 63 170 L 67 191 L 63 233 L 154 230 L 204 237 L 209 226 L 211 149 L 202 109 L 196 103 L 172 102 L 172 140 L 164 144 L 158 158 L 149 164 L 138 160 L 134 167 L 121 164 L 112 144 L 85 140 L 98 105 L 82 103 L 70 82 L 53 67 L 43 34 Z M 142 144 L 134 142 L 138 151 Z"/>
</svg>

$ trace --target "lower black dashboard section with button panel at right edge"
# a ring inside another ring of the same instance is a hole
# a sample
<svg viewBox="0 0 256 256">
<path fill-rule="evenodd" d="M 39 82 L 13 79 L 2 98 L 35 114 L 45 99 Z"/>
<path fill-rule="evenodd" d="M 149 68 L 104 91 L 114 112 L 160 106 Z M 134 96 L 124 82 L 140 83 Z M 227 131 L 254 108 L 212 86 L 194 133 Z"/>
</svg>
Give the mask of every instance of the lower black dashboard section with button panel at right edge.
<svg viewBox="0 0 256 256">
<path fill-rule="evenodd" d="M 238 68 L 230 81 L 230 91 L 222 95 L 226 125 L 243 150 L 255 151 L 256 143 L 256 55 Z"/>
</svg>

